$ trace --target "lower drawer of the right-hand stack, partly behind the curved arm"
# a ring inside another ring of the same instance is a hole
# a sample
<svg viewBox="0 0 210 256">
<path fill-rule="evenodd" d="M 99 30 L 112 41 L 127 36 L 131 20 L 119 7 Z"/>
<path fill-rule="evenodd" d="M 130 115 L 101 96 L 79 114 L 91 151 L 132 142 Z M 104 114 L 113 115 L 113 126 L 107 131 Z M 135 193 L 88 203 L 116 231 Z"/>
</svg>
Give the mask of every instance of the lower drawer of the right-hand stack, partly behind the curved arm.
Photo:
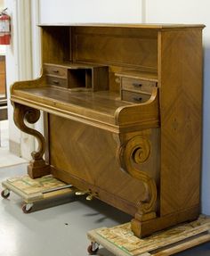
<svg viewBox="0 0 210 256">
<path fill-rule="evenodd" d="M 149 100 L 150 95 L 134 93 L 130 91 L 121 91 L 121 99 L 132 103 L 145 103 Z"/>
</svg>

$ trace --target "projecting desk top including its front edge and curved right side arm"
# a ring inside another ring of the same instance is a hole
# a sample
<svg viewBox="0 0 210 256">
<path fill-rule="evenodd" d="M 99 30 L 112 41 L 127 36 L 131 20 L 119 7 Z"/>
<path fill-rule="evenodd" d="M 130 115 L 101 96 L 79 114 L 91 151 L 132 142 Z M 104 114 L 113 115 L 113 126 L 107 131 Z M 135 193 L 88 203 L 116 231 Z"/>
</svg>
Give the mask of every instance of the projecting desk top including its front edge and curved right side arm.
<svg viewBox="0 0 210 256">
<path fill-rule="evenodd" d="M 147 103 L 129 103 L 110 91 L 68 90 L 59 87 L 23 87 L 13 90 L 12 101 L 36 109 L 117 131 L 148 120 L 158 122 L 154 96 Z M 151 111 L 151 109 L 153 111 Z"/>
</svg>

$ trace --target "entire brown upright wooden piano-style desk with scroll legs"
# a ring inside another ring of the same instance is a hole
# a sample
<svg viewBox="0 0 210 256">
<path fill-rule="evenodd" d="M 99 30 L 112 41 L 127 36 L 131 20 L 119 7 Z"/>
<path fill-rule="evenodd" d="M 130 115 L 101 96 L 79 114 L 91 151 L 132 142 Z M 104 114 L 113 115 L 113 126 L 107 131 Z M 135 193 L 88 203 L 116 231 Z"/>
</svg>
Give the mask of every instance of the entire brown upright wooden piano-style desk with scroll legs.
<svg viewBox="0 0 210 256">
<path fill-rule="evenodd" d="M 11 90 L 16 125 L 39 145 L 30 177 L 125 211 L 138 236 L 196 219 L 204 26 L 41 27 L 43 73 Z M 44 136 L 24 121 L 40 111 Z"/>
</svg>

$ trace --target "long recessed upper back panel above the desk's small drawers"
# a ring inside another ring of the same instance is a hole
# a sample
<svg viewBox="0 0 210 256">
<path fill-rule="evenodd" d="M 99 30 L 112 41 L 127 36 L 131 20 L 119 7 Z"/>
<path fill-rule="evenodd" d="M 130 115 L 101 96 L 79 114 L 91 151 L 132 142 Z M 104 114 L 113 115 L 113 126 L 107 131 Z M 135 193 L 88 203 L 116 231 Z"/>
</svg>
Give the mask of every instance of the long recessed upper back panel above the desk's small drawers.
<svg viewBox="0 0 210 256">
<path fill-rule="evenodd" d="M 74 62 L 157 70 L 157 31 L 82 27 L 73 31 Z"/>
</svg>

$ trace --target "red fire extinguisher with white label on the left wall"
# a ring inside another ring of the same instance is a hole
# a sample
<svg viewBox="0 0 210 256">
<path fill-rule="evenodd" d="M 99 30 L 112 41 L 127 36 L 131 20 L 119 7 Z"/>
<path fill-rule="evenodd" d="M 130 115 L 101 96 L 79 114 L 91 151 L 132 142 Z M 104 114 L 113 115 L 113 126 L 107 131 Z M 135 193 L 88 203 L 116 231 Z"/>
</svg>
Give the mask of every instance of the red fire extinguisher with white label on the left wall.
<svg viewBox="0 0 210 256">
<path fill-rule="evenodd" d="M 10 45 L 11 18 L 6 10 L 7 8 L 0 12 L 0 45 Z"/>
</svg>

